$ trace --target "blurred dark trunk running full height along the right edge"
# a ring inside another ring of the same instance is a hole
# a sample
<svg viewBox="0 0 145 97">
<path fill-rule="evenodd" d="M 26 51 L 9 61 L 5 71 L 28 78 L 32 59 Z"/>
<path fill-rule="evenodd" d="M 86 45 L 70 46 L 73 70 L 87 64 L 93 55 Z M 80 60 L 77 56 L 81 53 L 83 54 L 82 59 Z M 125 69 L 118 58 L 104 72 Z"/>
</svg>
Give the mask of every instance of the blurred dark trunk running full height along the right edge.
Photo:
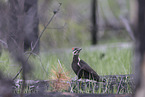
<svg viewBox="0 0 145 97">
<path fill-rule="evenodd" d="M 138 24 L 135 51 L 135 97 L 145 95 L 145 1 L 138 0 Z"/>
</svg>

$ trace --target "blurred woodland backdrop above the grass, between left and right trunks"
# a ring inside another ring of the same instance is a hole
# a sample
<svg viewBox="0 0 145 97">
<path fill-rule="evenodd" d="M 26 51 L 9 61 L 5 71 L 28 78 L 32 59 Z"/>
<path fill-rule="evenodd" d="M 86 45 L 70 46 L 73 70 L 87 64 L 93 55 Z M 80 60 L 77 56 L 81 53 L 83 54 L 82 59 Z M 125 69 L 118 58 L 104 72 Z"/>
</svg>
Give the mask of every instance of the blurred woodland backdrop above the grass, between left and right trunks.
<svg viewBox="0 0 145 97">
<path fill-rule="evenodd" d="M 131 20 L 130 2 L 130 0 L 98 0 L 98 4 L 96 3 L 98 44 L 132 41 L 121 20 L 121 17 Z M 89 0 L 39 1 L 39 30 L 41 31 L 48 22 L 58 3 L 62 3 L 62 6 L 41 38 L 41 50 L 91 46 L 93 5 Z"/>
</svg>

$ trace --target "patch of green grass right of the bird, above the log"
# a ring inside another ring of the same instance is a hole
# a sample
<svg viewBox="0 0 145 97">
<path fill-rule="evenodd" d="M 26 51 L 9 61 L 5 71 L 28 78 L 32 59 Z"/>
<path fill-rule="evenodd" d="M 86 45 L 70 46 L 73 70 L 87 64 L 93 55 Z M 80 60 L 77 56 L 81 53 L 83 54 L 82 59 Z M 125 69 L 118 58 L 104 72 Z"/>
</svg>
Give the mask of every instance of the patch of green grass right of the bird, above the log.
<svg viewBox="0 0 145 97">
<path fill-rule="evenodd" d="M 101 53 L 97 51 L 90 52 L 90 54 L 84 52 L 80 57 L 100 75 L 130 74 L 131 51 L 129 49 L 109 49 L 104 52 L 105 57 L 100 60 Z"/>
</svg>

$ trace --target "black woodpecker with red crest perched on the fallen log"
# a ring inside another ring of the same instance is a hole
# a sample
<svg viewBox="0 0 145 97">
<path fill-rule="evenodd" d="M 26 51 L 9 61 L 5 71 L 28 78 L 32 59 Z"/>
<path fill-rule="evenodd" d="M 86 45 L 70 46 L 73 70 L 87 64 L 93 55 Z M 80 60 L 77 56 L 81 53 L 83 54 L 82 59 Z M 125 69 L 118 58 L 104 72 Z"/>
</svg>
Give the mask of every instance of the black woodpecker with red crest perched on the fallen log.
<svg viewBox="0 0 145 97">
<path fill-rule="evenodd" d="M 99 81 L 99 75 L 83 60 L 79 58 L 79 53 L 82 48 L 74 47 L 73 51 L 73 60 L 71 67 L 74 73 L 78 76 L 78 79 L 89 79 Z"/>
</svg>

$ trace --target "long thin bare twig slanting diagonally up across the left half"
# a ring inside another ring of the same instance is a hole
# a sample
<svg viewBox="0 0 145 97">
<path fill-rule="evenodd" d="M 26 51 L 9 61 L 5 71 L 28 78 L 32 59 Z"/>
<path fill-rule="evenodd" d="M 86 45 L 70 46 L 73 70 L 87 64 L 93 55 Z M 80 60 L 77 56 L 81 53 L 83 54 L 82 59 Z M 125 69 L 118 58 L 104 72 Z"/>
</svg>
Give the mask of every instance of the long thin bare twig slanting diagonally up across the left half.
<svg viewBox="0 0 145 97">
<path fill-rule="evenodd" d="M 61 6 L 61 3 L 59 3 L 58 9 L 55 10 L 55 11 L 53 11 L 53 13 L 54 13 L 53 16 L 50 18 L 50 20 L 48 21 L 48 23 L 46 24 L 46 26 L 44 27 L 44 29 L 43 29 L 42 32 L 40 33 L 40 36 L 38 37 L 37 41 L 35 42 L 34 46 L 32 47 L 31 52 L 33 52 L 33 50 L 35 49 L 35 47 L 36 47 L 36 45 L 38 44 L 38 42 L 39 42 L 41 36 L 42 36 L 43 33 L 45 32 L 47 26 L 51 23 L 51 21 L 53 20 L 54 16 L 58 13 L 58 11 L 59 11 L 59 9 L 60 9 L 60 6 Z M 28 56 L 27 59 L 26 59 L 26 62 L 29 60 L 29 58 L 30 58 L 31 55 L 32 55 L 32 53 L 29 54 L 29 56 Z M 15 75 L 15 77 L 13 78 L 13 80 L 15 80 L 15 79 L 17 78 L 17 76 L 21 73 L 22 69 L 23 69 L 23 68 L 21 68 L 21 69 L 19 70 L 19 72 Z"/>
</svg>

